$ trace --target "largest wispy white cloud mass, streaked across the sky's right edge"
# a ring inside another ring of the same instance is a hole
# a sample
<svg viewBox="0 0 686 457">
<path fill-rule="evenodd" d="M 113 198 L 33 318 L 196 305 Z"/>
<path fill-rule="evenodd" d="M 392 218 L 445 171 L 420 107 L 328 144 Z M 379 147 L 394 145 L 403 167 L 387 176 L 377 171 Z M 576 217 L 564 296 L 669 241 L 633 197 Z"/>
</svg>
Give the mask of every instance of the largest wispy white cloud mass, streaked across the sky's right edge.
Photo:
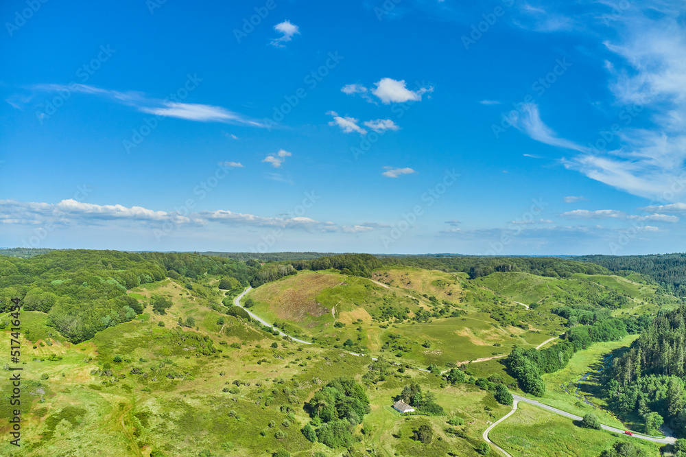
<svg viewBox="0 0 686 457">
<path fill-rule="evenodd" d="M 608 87 L 617 104 L 642 108 L 641 126 L 623 128 L 616 134 L 619 148 L 608 152 L 559 138 L 543 124 L 537 107 L 518 119 L 517 128 L 537 141 L 579 152 L 563 163 L 591 179 L 637 196 L 679 200 L 686 192 L 686 23 L 681 20 L 685 5 L 665 0 L 619 12 L 608 1 L 585 5 L 583 20 L 578 12 L 553 11 L 567 8 L 564 3 L 521 12 L 530 16 L 529 30 L 552 32 L 573 25 L 569 30 L 610 37 L 603 42 L 609 54 L 602 56 Z M 589 20 L 589 12 L 595 13 L 595 21 Z M 674 192 L 674 187 L 679 190 Z"/>
</svg>

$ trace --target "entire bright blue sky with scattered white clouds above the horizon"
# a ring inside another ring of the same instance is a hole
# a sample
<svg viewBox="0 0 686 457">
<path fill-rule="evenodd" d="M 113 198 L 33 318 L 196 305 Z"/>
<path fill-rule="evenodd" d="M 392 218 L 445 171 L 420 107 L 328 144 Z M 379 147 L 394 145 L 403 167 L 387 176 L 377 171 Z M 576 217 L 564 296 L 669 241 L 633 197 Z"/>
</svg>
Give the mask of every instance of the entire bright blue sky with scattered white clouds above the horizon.
<svg viewBox="0 0 686 457">
<path fill-rule="evenodd" d="M 686 7 L 5 1 L 0 246 L 683 251 Z"/>
</svg>

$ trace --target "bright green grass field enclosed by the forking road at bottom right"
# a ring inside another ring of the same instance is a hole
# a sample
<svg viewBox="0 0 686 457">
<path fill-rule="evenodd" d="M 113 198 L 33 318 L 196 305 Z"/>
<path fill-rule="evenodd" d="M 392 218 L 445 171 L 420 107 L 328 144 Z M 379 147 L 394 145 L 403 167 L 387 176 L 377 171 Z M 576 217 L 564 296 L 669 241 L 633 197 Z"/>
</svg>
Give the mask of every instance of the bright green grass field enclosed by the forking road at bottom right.
<svg viewBox="0 0 686 457">
<path fill-rule="evenodd" d="M 578 427 L 570 419 L 527 403 L 519 403 L 517 412 L 497 425 L 488 437 L 517 457 L 598 457 L 616 441 L 628 441 L 645 449 L 649 456 L 660 455 L 657 444 Z"/>
</svg>

